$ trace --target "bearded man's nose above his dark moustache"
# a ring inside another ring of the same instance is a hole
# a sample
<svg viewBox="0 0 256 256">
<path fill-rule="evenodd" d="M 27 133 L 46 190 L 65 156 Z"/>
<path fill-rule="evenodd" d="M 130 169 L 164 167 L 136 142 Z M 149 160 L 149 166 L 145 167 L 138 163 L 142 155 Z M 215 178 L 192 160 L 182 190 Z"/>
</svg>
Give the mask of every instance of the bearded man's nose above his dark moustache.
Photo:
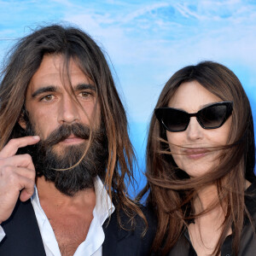
<svg viewBox="0 0 256 256">
<path fill-rule="evenodd" d="M 72 124 L 79 121 L 79 105 L 71 96 L 63 96 L 59 105 L 58 121 Z"/>
</svg>

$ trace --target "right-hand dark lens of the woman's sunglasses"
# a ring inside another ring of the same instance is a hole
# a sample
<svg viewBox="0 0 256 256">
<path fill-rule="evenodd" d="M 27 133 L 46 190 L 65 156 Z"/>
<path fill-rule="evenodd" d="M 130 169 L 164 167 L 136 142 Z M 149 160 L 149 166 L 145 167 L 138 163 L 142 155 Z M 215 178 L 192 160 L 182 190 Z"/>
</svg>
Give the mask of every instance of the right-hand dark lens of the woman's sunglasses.
<svg viewBox="0 0 256 256">
<path fill-rule="evenodd" d="M 227 115 L 226 105 L 213 105 L 201 109 L 199 119 L 205 128 L 217 128 L 224 123 Z"/>
</svg>

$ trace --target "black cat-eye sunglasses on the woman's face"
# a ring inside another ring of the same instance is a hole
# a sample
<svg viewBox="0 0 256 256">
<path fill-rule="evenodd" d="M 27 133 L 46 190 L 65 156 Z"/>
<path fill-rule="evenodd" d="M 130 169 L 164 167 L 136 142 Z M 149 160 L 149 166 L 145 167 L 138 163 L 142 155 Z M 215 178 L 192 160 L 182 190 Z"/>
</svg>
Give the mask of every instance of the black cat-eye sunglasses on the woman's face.
<svg viewBox="0 0 256 256">
<path fill-rule="evenodd" d="M 224 124 L 233 110 L 233 102 L 217 102 L 197 113 L 187 113 L 177 108 L 155 108 L 154 113 L 167 131 L 185 131 L 191 116 L 195 116 L 204 129 L 216 129 Z"/>
</svg>

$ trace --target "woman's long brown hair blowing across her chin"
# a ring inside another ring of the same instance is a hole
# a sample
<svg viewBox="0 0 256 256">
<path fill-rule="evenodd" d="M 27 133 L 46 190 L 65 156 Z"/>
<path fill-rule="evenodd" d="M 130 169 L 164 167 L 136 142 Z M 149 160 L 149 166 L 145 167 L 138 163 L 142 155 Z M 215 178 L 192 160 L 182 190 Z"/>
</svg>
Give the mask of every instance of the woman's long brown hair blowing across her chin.
<svg viewBox="0 0 256 256">
<path fill-rule="evenodd" d="M 239 251 L 244 218 L 247 216 L 250 219 L 244 203 L 245 179 L 252 183 L 255 178 L 252 111 L 236 75 L 229 68 L 212 61 L 203 61 L 196 66 L 184 67 L 177 71 L 167 81 L 156 108 L 167 107 L 179 85 L 189 81 L 197 81 L 223 101 L 234 102 L 229 142 L 221 150 L 217 167 L 202 177 L 190 178 L 175 164 L 167 144 L 166 131 L 153 114 L 147 145 L 148 183 L 139 195 L 139 198 L 148 195 L 148 205 L 154 207 L 158 216 L 153 250 L 160 255 L 166 255 L 171 250 L 189 219 L 200 216 L 195 214 L 193 208 L 196 190 L 215 183 L 218 199 L 212 207 L 220 203 L 225 209 L 225 216 L 222 234 L 213 254 L 220 253 L 232 225 L 232 247 L 236 255 Z"/>
</svg>

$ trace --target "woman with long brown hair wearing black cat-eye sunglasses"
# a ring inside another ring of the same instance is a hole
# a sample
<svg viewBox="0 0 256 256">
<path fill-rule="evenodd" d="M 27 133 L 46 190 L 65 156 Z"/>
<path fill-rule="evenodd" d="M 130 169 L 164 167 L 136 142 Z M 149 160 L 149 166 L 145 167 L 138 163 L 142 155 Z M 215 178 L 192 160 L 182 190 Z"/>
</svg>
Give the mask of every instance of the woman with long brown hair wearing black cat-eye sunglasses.
<svg viewBox="0 0 256 256">
<path fill-rule="evenodd" d="M 177 71 L 160 94 L 147 146 L 148 205 L 160 255 L 256 255 L 253 117 L 227 67 Z"/>
</svg>

